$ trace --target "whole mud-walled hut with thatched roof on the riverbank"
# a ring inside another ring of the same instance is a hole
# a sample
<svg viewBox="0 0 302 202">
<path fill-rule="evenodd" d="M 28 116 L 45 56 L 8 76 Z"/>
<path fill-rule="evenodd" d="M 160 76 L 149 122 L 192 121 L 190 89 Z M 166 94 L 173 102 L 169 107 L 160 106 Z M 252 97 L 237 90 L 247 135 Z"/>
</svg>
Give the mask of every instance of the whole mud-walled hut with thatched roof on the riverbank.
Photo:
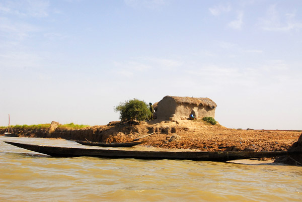
<svg viewBox="0 0 302 202">
<path fill-rule="evenodd" d="M 157 104 L 157 118 L 180 120 L 188 119 L 191 114 L 197 119 L 215 117 L 216 103 L 207 97 L 165 96 Z"/>
</svg>

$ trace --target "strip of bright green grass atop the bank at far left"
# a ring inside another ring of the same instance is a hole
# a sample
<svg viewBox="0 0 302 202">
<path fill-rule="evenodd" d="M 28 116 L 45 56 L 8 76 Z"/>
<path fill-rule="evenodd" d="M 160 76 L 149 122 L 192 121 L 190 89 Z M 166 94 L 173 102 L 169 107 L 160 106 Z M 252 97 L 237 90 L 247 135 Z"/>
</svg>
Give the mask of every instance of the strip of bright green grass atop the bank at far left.
<svg viewBox="0 0 302 202">
<path fill-rule="evenodd" d="M 50 124 L 38 124 L 38 125 L 15 125 L 11 126 L 12 129 L 19 129 L 19 130 L 34 130 L 34 129 L 48 129 L 50 127 Z M 89 125 L 78 125 L 78 124 L 64 124 L 60 125 L 58 128 L 61 129 L 81 129 L 81 128 L 86 128 L 90 127 Z M 6 129 L 7 126 L 0 126 L 0 129 Z"/>
</svg>

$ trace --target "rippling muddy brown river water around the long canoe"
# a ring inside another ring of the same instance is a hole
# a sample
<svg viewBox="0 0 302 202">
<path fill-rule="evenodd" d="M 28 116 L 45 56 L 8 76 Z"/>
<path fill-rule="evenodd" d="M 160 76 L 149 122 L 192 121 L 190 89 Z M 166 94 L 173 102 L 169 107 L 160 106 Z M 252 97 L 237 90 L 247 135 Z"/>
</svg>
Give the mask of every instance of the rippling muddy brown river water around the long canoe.
<svg viewBox="0 0 302 202">
<path fill-rule="evenodd" d="M 78 145 L 0 136 L 0 201 L 302 201 L 301 166 L 54 158 L 3 141 Z"/>
</svg>

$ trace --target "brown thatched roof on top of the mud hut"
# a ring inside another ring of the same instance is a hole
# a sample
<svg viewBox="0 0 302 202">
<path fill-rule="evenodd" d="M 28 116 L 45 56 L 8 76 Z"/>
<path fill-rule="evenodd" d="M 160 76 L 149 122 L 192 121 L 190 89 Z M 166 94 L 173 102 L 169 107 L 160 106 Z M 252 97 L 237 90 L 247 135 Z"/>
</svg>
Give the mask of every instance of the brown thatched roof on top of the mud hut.
<svg viewBox="0 0 302 202">
<path fill-rule="evenodd" d="M 202 105 L 204 107 L 216 108 L 217 105 L 213 100 L 207 97 L 176 97 L 176 96 L 165 96 L 172 97 L 178 104 L 189 104 L 189 105 Z M 165 98 L 164 97 L 164 98 Z"/>
</svg>

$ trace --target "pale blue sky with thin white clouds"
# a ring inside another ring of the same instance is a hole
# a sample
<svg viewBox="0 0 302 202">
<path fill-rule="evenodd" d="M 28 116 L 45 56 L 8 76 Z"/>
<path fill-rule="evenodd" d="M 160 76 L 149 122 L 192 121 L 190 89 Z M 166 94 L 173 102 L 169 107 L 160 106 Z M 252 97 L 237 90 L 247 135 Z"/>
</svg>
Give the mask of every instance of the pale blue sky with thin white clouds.
<svg viewBox="0 0 302 202">
<path fill-rule="evenodd" d="M 228 128 L 302 129 L 302 1 L 0 1 L 0 126 L 106 125 L 209 97 Z"/>
</svg>

